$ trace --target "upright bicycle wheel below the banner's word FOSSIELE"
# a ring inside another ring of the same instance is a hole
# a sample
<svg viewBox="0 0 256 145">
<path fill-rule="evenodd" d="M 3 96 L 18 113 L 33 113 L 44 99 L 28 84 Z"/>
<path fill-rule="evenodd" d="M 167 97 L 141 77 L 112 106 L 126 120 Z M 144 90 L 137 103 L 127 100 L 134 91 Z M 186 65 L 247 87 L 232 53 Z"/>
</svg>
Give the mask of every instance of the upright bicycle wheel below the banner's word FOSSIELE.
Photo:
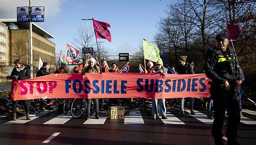
<svg viewBox="0 0 256 145">
<path fill-rule="evenodd" d="M 72 117 L 74 118 L 80 117 L 84 113 L 86 106 L 87 106 L 87 103 L 85 98 L 75 98 L 71 104 Z"/>
</svg>

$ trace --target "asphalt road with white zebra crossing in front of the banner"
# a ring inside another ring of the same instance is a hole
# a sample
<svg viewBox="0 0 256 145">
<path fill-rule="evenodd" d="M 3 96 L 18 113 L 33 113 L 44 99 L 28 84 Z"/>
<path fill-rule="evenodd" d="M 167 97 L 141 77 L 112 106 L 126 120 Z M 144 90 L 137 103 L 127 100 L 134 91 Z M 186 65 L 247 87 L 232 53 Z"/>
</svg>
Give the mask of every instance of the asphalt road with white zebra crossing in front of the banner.
<svg viewBox="0 0 256 145">
<path fill-rule="evenodd" d="M 244 109 L 243 115 L 238 142 L 256 144 L 256 111 Z M 30 121 L 22 116 L 10 121 L 5 114 L 0 119 L 0 140 L 1 144 L 214 144 L 213 120 L 206 117 L 205 109 L 195 115 L 171 110 L 167 116 L 168 120 L 153 120 L 145 108 L 132 110 L 124 120 L 110 120 L 106 113 L 100 114 L 100 120 L 72 118 L 60 109 L 43 111 Z"/>
</svg>

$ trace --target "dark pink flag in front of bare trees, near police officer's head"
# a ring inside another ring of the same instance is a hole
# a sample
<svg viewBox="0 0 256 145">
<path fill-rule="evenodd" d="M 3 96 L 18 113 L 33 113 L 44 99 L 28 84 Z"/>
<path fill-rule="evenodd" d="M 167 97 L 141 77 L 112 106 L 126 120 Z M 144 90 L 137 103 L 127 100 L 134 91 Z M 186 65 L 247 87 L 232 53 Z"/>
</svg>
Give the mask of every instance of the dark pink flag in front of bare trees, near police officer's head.
<svg viewBox="0 0 256 145">
<path fill-rule="evenodd" d="M 232 25 L 226 22 L 229 41 L 238 41 L 239 34 L 242 31 L 242 28 L 238 25 Z"/>
</svg>

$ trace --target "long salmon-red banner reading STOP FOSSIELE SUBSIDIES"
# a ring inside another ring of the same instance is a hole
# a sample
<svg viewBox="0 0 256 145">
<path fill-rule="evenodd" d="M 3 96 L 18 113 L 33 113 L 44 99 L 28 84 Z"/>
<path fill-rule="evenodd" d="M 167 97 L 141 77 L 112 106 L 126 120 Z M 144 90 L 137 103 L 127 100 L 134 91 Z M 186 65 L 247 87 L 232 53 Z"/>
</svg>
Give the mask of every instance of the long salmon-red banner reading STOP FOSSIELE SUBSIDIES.
<svg viewBox="0 0 256 145">
<path fill-rule="evenodd" d="M 13 80 L 11 98 L 208 97 L 208 81 L 205 74 L 52 74 Z"/>
</svg>

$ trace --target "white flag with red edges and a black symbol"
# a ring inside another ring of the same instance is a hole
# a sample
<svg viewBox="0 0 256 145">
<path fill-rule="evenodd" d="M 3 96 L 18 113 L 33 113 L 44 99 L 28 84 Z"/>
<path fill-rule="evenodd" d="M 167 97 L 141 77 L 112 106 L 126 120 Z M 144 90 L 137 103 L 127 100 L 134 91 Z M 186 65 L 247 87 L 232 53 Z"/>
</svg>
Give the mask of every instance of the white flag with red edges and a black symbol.
<svg viewBox="0 0 256 145">
<path fill-rule="evenodd" d="M 76 63 L 78 54 L 79 54 L 79 50 L 67 44 L 65 62 Z"/>
</svg>

